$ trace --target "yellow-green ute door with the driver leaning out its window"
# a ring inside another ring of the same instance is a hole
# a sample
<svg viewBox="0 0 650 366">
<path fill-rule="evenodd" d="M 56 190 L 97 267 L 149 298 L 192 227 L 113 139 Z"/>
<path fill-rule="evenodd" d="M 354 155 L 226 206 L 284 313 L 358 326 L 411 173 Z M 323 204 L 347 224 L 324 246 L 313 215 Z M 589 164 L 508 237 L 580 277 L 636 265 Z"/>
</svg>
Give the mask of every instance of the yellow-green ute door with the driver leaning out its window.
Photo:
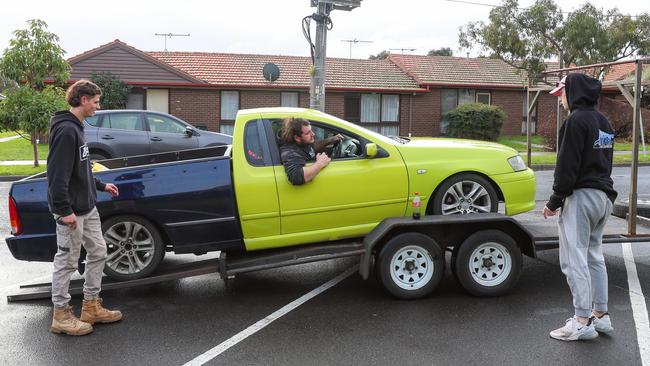
<svg viewBox="0 0 650 366">
<path fill-rule="evenodd" d="M 361 236 L 386 217 L 404 215 L 408 177 L 395 147 L 378 144 L 381 154 L 369 158 L 365 144 L 374 141 L 326 122 L 311 124 L 317 140 L 342 134 L 345 154 L 336 156 L 337 147 L 327 147 L 330 164 L 300 186 L 289 183 L 284 167 L 276 165 L 283 236 L 296 244 Z"/>
</svg>

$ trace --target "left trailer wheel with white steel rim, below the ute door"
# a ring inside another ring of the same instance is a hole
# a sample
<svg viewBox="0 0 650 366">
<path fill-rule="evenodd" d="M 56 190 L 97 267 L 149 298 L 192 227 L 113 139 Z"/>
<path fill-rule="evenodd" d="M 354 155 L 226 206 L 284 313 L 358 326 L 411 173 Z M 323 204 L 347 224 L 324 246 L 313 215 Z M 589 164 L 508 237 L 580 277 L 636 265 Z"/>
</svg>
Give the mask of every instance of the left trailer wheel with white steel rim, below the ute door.
<svg viewBox="0 0 650 366">
<path fill-rule="evenodd" d="M 445 271 L 444 252 L 430 237 L 420 233 L 395 236 L 381 249 L 375 273 L 381 285 L 400 299 L 431 294 Z"/>
</svg>

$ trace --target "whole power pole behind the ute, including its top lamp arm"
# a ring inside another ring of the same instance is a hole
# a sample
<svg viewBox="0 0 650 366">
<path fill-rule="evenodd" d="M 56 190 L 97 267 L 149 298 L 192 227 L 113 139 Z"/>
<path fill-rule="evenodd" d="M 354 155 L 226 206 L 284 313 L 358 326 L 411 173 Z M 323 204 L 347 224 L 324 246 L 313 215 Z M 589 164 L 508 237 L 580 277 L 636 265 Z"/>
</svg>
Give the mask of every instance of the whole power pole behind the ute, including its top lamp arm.
<svg viewBox="0 0 650 366">
<path fill-rule="evenodd" d="M 317 12 L 311 15 L 316 21 L 316 42 L 313 44 L 311 82 L 309 84 L 309 108 L 325 111 L 325 57 L 327 48 L 327 27 L 331 27 L 329 14 L 334 9 L 351 11 L 361 6 L 361 0 L 310 0 Z"/>
</svg>

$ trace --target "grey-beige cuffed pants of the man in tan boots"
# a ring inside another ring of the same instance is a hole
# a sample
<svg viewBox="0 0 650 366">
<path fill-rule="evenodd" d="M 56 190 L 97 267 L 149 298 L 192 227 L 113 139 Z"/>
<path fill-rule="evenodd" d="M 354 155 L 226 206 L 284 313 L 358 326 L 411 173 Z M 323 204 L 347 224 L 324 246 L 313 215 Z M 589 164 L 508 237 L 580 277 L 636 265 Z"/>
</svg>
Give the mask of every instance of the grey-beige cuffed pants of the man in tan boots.
<svg viewBox="0 0 650 366">
<path fill-rule="evenodd" d="M 54 215 L 56 220 L 59 216 Z M 102 224 L 97 208 L 85 215 L 77 216 L 77 228 L 56 225 L 58 250 L 54 256 L 52 274 L 52 303 L 64 307 L 70 301 L 68 289 L 70 277 L 79 265 L 81 246 L 86 249 L 86 271 L 84 273 L 84 299 L 91 300 L 99 295 L 102 285 L 102 271 L 106 260 L 106 242 L 102 235 Z"/>
</svg>

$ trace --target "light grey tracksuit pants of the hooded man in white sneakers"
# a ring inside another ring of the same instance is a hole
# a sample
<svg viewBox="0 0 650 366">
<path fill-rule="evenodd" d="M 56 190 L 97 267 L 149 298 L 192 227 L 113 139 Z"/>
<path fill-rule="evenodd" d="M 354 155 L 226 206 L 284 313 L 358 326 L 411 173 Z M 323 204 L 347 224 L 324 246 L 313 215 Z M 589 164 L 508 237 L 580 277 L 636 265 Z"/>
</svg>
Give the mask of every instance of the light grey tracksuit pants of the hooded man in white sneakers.
<svg viewBox="0 0 650 366">
<path fill-rule="evenodd" d="M 598 189 L 577 189 L 564 200 L 558 221 L 560 267 L 567 278 L 575 315 L 607 311 L 607 269 L 603 257 L 603 229 L 612 202 Z"/>
</svg>

